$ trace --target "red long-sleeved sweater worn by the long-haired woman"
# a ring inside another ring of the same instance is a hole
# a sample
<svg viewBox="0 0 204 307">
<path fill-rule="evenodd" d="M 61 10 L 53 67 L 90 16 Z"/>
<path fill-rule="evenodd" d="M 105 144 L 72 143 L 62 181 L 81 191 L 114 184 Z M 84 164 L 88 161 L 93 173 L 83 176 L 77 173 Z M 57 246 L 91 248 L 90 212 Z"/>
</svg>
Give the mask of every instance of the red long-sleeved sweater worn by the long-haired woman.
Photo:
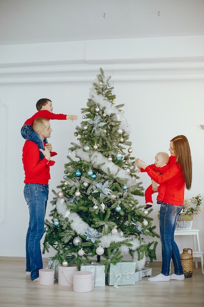
<svg viewBox="0 0 204 307">
<path fill-rule="evenodd" d="M 183 205 L 185 182 L 176 156 L 169 157 L 169 169 L 163 175 L 157 174 L 149 166 L 145 168 L 145 172 L 159 184 L 166 182 L 166 191 L 161 200 L 163 203 Z"/>
</svg>

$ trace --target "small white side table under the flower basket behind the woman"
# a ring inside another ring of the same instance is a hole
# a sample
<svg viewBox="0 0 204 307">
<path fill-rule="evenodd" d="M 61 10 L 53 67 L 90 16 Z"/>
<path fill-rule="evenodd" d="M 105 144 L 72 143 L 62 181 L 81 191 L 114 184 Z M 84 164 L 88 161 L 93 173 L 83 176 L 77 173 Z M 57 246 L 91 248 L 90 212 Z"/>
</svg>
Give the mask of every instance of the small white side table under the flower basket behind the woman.
<svg viewBox="0 0 204 307">
<path fill-rule="evenodd" d="M 201 252 L 200 240 L 199 240 L 199 229 L 190 230 L 175 230 L 174 235 L 192 235 L 193 236 L 193 257 L 195 258 L 195 266 L 198 268 L 198 261 L 196 258 L 201 258 L 201 269 L 204 274 L 204 252 Z"/>
</svg>

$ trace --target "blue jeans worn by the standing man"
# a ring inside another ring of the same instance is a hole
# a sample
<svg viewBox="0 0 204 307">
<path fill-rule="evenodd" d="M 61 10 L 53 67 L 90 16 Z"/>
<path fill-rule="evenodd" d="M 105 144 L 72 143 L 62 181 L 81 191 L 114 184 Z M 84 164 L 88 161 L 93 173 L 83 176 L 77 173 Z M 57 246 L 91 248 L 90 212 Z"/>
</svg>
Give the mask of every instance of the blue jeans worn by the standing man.
<svg viewBox="0 0 204 307">
<path fill-rule="evenodd" d="M 31 272 L 33 281 L 39 277 L 39 270 L 43 268 L 40 241 L 45 232 L 48 184 L 26 183 L 23 193 L 30 215 L 26 234 L 26 271 Z"/>
</svg>

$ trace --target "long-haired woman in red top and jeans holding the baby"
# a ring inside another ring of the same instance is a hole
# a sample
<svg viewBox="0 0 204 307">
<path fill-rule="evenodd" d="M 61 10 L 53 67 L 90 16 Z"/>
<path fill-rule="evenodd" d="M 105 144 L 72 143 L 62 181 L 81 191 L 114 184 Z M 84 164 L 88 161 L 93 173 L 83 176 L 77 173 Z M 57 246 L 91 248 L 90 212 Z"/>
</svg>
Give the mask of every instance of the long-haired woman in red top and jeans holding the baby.
<svg viewBox="0 0 204 307">
<path fill-rule="evenodd" d="M 148 281 L 184 280 L 179 248 L 174 241 L 178 214 L 182 210 L 184 200 L 184 188 L 191 188 L 192 160 L 190 147 L 184 135 L 178 135 L 170 141 L 169 170 L 163 175 L 157 174 L 140 159 L 136 159 L 136 165 L 145 169 L 145 172 L 157 183 L 166 183 L 166 191 L 161 200 L 159 211 L 159 228 L 162 251 L 161 273 Z M 153 187 L 156 191 L 156 186 Z M 171 258 L 174 263 L 174 274 L 170 276 Z"/>
</svg>

